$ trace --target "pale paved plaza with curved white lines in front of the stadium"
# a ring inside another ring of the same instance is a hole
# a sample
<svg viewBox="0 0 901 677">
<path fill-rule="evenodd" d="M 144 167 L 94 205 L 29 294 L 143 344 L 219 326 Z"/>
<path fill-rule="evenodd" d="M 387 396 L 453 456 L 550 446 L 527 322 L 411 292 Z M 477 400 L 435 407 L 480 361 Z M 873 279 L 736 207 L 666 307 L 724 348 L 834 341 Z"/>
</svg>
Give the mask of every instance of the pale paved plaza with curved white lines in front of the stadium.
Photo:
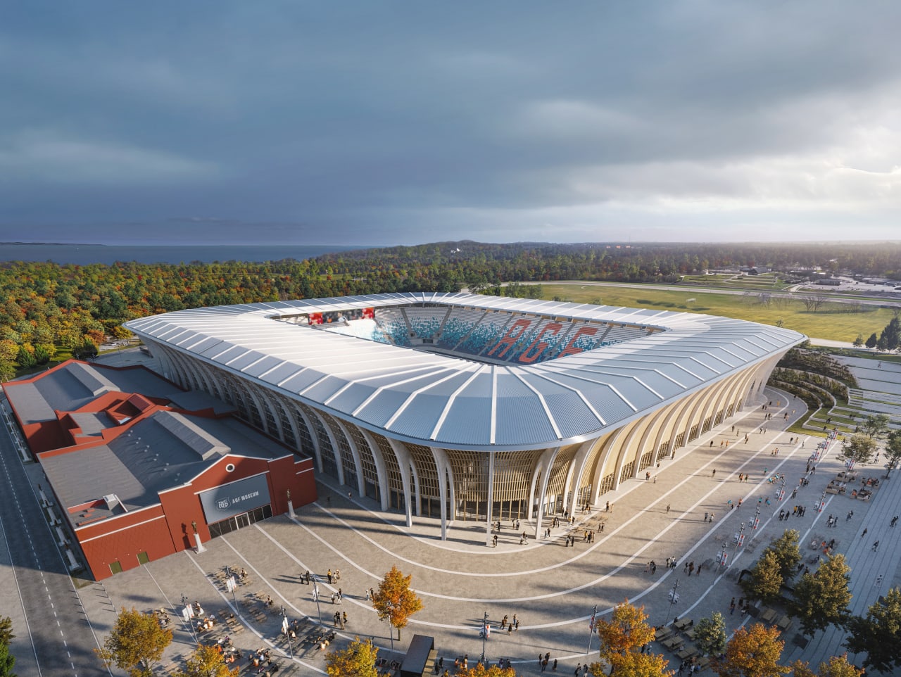
<svg viewBox="0 0 901 677">
<path fill-rule="evenodd" d="M 323 625 L 332 628 L 335 611 L 348 616 L 345 629 L 337 630 L 337 645 L 353 636 L 372 637 L 383 647 L 382 655 L 399 657 L 414 634 L 430 635 L 445 667 L 451 668 L 455 657 L 468 654 L 471 664 L 482 653 L 478 629 L 487 612 L 492 623 L 486 643 L 489 660 L 509 658 L 517 673 L 537 674 L 541 672 L 538 655 L 550 653 L 551 663 L 559 661 L 558 672 L 570 674 L 578 663 L 596 660 L 597 638 L 589 639 L 588 629 L 595 605 L 598 614 L 604 615 L 628 599 L 644 606 L 652 625 L 671 622 L 676 616 L 702 618 L 714 610 L 724 613 L 730 633 L 751 622 L 737 609 L 730 614 L 730 600 L 743 595 L 738 573 L 753 564 L 770 538 L 794 528 L 801 534 L 805 563 L 819 554 L 809 547 L 811 541 L 835 539 L 836 551 L 851 565 L 851 609 L 865 613 L 880 594 L 897 584 L 901 545 L 889 527 L 890 519 L 901 513 L 895 477 L 883 481 L 871 501 L 852 499 L 849 488 L 846 495 L 826 495 L 824 509 L 817 511 L 825 485 L 844 469 L 839 447 L 828 449 L 824 458 L 815 461 L 815 472 L 806 474 L 808 458 L 821 439 L 802 437 L 789 443 L 795 434 L 784 427 L 801 414 L 803 405 L 787 401 L 784 393 L 776 391 L 768 391 L 767 397 L 772 400 L 767 411 L 761 410 L 760 402 L 749 406 L 727 425 L 679 449 L 675 458 L 651 467 L 650 480 L 644 480 L 642 473 L 642 479 L 605 495 L 604 501 L 611 501 L 609 511 L 602 502 L 590 512 L 577 513 L 574 526 L 552 528 L 550 539 L 536 542 L 532 524 L 523 520 L 516 530 L 505 519 L 496 547 L 486 546 L 483 522 L 457 521 L 448 539 L 441 541 L 438 520 L 414 518 L 414 527 L 405 528 L 402 515 L 382 513 L 372 501 L 356 494 L 349 497 L 346 487 L 332 486 L 324 478 L 319 500 L 296 510 L 295 519 L 287 515 L 268 519 L 214 538 L 204 544 L 204 552 L 172 555 L 103 583 L 87 582 L 77 596 L 99 637 L 112 627 L 115 611 L 121 607 L 167 609 L 175 630 L 164 661 L 167 665 L 188 654 L 196 642 L 178 617 L 184 595 L 199 601 L 205 614 L 220 618 L 235 614 L 243 627 L 236 633 L 220 623 L 210 636 L 228 634 L 245 650 L 270 645 L 273 653 L 284 655 L 280 661 L 287 667 L 292 663 L 289 648 L 278 636 L 284 606 L 290 620 L 303 620 L 300 636 L 291 647 L 296 674 L 324 672 L 325 651 L 314 643 L 322 631 L 314 621 L 321 613 Z M 764 419 L 768 413 L 771 420 Z M 9 463 L 14 457 L 6 460 Z M 885 474 L 878 465 L 858 471 L 859 477 Z M 27 465 L 26 472 L 32 484 L 41 482 L 39 466 Z M 739 474 L 747 474 L 748 481 L 740 483 Z M 782 501 L 777 500 L 781 482 L 769 482 L 774 475 L 785 477 Z M 808 477 L 809 484 L 790 499 L 803 477 Z M 803 518 L 778 519 L 779 510 L 790 511 L 795 505 L 806 507 Z M 758 507 L 760 527 L 754 530 L 751 523 Z M 846 519 L 851 510 L 853 516 Z M 705 513 L 713 515 L 712 522 L 705 521 Z M 826 527 L 830 515 L 839 518 L 834 528 Z M 739 547 L 734 540 L 742 522 L 744 538 Z M 861 537 L 864 528 L 868 533 Z M 584 541 L 587 529 L 594 535 L 591 543 Z M 520 543 L 523 531 L 529 536 L 525 545 Z M 564 545 L 569 535 L 575 537 L 573 547 Z M 880 547 L 873 552 L 871 545 L 877 539 Z M 725 568 L 716 563 L 724 546 L 729 555 Z M 678 564 L 668 570 L 666 561 L 672 557 Z M 651 560 L 657 564 L 653 574 L 646 572 Z M 684 568 L 690 563 L 693 575 Z M 366 597 L 366 591 L 378 587 L 392 565 L 412 574 L 413 587 L 423 599 L 423 610 L 411 618 L 401 639 L 395 639 L 394 653 L 387 624 L 378 620 Z M 223 584 L 225 567 L 248 573 L 233 594 Z M 331 585 L 325 580 L 330 569 L 341 573 Z M 300 582 L 299 574 L 307 570 L 320 578 L 318 608 L 312 586 Z M 879 585 L 878 576 L 882 576 Z M 677 585 L 678 602 L 670 604 L 669 592 Z M 337 595 L 339 590 L 343 599 L 332 603 L 332 593 Z M 271 606 L 251 601 L 267 596 L 273 600 Z M 501 631 L 501 619 L 514 614 L 518 629 Z M 804 649 L 794 643 L 796 634 L 795 623 L 783 635 L 783 663 L 796 658 L 819 662 L 842 653 L 841 631 L 821 633 Z M 587 652 L 589 641 L 591 651 Z M 653 645 L 653 650 L 669 659 L 670 668 L 678 667 L 679 659 L 665 647 Z M 20 674 L 37 673 L 29 669 L 28 655 L 18 659 Z"/>
</svg>

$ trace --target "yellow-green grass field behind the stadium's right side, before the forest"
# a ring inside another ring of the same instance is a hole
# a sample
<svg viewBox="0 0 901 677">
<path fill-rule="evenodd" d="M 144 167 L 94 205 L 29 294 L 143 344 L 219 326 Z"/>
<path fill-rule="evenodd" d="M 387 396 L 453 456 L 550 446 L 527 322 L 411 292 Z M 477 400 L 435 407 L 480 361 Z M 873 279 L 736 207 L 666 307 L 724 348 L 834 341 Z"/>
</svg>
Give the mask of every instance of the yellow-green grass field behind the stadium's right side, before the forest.
<svg viewBox="0 0 901 677">
<path fill-rule="evenodd" d="M 767 308 L 754 302 L 752 297 L 714 292 L 677 292 L 656 289 L 650 285 L 633 289 L 542 283 L 542 293 L 545 299 L 557 296 L 565 301 L 588 303 L 600 298 L 605 305 L 659 308 L 661 311 L 703 312 L 762 324 L 776 324 L 778 320 L 782 320 L 786 329 L 795 329 L 807 336 L 849 342 L 857 338 L 858 334 L 862 334 L 864 339 L 874 331 L 878 335 L 892 319 L 892 311 L 884 308 L 848 312 L 850 305 L 833 303 L 812 312 L 805 309 L 804 303 L 789 299 L 779 304 L 771 302 Z M 688 299 L 694 301 L 688 303 Z"/>
</svg>

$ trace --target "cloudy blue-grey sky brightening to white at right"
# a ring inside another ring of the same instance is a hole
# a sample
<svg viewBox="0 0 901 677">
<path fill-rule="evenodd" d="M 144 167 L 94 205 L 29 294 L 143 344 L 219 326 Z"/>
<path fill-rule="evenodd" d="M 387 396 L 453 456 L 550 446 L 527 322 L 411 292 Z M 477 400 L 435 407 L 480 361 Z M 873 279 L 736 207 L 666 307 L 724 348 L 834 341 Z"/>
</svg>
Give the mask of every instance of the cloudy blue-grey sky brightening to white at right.
<svg viewBox="0 0 901 677">
<path fill-rule="evenodd" d="M 901 3 L 0 7 L 0 241 L 901 239 Z"/>
</svg>

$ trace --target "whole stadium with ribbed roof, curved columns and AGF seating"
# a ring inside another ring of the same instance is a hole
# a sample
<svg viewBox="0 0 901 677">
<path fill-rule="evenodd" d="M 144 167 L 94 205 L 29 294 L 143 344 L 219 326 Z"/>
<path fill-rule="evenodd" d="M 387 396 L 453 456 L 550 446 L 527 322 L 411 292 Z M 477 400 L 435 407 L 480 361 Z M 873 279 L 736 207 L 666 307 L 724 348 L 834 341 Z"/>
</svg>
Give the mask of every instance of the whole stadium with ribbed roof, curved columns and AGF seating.
<svg viewBox="0 0 901 677">
<path fill-rule="evenodd" d="M 162 375 L 229 402 L 381 510 L 528 519 L 622 483 L 756 401 L 805 339 L 703 314 L 389 293 L 126 324 Z M 438 522 L 436 521 L 436 524 Z"/>
</svg>

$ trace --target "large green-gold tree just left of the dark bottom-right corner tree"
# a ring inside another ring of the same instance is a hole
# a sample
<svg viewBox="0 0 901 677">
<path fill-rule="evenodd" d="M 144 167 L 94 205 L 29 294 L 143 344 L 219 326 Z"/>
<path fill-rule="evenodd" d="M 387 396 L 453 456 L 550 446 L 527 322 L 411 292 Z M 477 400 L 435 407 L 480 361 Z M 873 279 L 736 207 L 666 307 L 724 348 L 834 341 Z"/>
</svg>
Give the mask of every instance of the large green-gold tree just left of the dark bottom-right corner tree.
<svg viewBox="0 0 901 677">
<path fill-rule="evenodd" d="M 851 603 L 851 567 L 844 555 L 828 557 L 814 573 L 805 573 L 795 586 L 794 600 L 788 611 L 801 621 L 805 635 L 830 625 L 842 625 Z"/>
</svg>

